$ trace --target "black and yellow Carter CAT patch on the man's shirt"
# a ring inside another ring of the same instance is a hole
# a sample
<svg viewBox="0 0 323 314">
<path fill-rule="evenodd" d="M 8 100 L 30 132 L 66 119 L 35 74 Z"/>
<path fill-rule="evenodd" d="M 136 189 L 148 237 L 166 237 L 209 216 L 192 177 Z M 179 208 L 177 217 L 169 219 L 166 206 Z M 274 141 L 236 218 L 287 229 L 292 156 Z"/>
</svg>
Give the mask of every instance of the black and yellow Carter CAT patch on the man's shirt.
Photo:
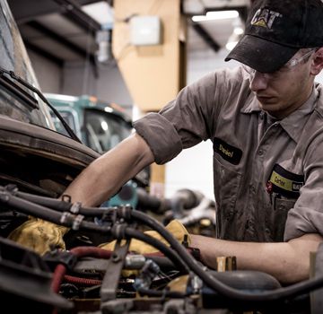
<svg viewBox="0 0 323 314">
<path fill-rule="evenodd" d="M 285 170 L 276 163 L 269 182 L 273 192 L 282 196 L 297 198 L 300 196 L 300 189 L 304 185 L 304 176 Z"/>
</svg>

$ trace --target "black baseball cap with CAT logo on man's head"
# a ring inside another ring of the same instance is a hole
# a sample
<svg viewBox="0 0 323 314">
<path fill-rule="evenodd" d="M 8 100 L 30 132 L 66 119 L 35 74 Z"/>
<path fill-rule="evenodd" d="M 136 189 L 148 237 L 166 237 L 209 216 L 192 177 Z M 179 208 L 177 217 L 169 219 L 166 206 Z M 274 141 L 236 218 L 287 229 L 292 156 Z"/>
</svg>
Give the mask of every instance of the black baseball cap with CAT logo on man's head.
<svg viewBox="0 0 323 314">
<path fill-rule="evenodd" d="M 323 46 L 321 0 L 256 0 L 246 29 L 225 61 L 237 60 L 262 73 L 275 72 L 300 48 Z"/>
</svg>

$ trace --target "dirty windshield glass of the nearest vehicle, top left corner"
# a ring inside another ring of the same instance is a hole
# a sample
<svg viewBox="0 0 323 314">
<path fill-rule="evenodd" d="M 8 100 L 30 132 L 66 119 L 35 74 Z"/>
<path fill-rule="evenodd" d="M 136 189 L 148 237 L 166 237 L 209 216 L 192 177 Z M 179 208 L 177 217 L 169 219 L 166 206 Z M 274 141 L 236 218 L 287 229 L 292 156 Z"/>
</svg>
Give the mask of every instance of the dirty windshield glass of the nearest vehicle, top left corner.
<svg viewBox="0 0 323 314">
<path fill-rule="evenodd" d="M 32 86 L 39 88 L 12 13 L 4 0 L 0 0 L 0 4 L 0 66 L 5 70 L 13 71 Z M 8 82 L 11 82 L 10 78 Z M 0 83 L 0 114 L 55 130 L 47 105 L 39 99 L 36 93 L 23 86 L 20 87 L 38 102 L 39 109 L 32 108 L 23 101 L 17 93 L 13 92 L 14 88 L 8 89 Z"/>
</svg>

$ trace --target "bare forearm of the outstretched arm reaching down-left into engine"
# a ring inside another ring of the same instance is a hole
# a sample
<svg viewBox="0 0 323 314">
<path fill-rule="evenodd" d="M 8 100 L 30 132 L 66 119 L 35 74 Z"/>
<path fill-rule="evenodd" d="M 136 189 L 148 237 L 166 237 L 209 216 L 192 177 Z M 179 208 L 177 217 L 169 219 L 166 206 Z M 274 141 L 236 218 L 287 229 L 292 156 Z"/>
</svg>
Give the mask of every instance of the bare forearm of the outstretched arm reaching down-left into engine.
<svg viewBox="0 0 323 314">
<path fill-rule="evenodd" d="M 117 147 L 93 161 L 66 188 L 72 202 L 96 206 L 118 192 L 129 179 L 153 162 L 153 153 L 144 139 L 131 135 Z"/>
</svg>

